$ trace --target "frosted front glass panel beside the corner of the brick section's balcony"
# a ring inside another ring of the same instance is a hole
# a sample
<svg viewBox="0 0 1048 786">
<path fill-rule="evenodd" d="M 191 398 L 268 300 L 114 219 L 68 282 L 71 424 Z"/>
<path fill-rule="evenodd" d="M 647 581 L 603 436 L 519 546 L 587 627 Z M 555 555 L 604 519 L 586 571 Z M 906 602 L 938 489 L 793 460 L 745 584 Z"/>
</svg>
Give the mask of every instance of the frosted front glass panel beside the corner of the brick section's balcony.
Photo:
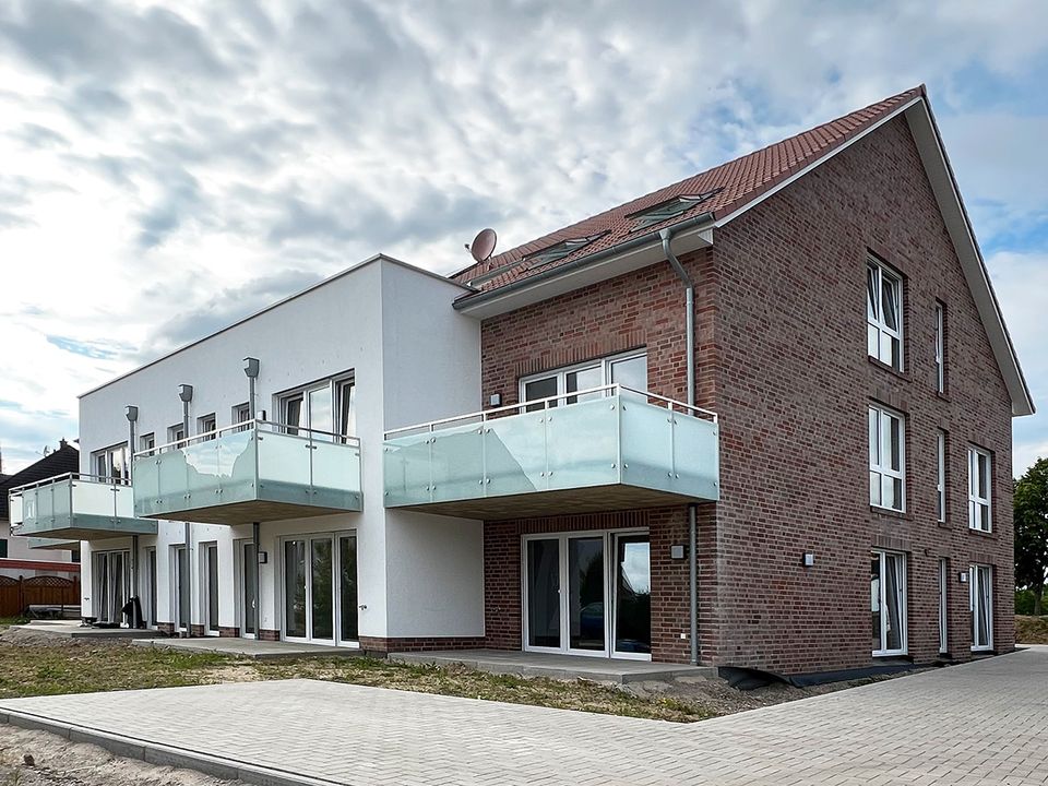
<svg viewBox="0 0 1048 786">
<path fill-rule="evenodd" d="M 604 397 L 546 415 L 548 488 L 607 486 L 619 480 L 619 400 Z"/>
</svg>

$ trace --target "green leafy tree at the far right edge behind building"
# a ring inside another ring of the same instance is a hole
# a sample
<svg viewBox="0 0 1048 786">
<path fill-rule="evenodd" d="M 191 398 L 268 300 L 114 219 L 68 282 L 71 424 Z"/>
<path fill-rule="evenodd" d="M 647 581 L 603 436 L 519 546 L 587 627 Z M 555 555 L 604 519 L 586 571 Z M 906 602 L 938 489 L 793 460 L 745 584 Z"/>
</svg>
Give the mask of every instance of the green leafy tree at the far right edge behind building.
<svg viewBox="0 0 1048 786">
<path fill-rule="evenodd" d="M 1034 594 L 1034 614 L 1048 576 L 1048 458 L 1037 462 L 1015 483 L 1015 584 Z"/>
</svg>

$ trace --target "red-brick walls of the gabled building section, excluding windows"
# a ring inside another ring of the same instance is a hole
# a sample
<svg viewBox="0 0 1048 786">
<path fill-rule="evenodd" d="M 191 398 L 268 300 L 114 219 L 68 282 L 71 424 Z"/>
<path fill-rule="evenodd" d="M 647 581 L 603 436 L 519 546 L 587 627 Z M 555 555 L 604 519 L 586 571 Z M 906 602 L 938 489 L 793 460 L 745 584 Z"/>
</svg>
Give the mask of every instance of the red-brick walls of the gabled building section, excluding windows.
<svg viewBox="0 0 1048 786">
<path fill-rule="evenodd" d="M 866 349 L 866 261 L 904 281 L 905 371 Z M 870 549 L 907 555 L 909 655 L 938 643 L 938 560 L 950 560 L 950 650 L 970 656 L 972 562 L 993 565 L 995 648 L 1014 644 L 1011 403 L 906 121 L 892 120 L 717 229 L 682 260 L 698 282 L 696 403 L 722 418 L 722 500 L 700 507 L 704 663 L 785 674 L 870 665 Z M 936 393 L 936 302 L 948 390 Z M 646 347 L 648 389 L 683 400 L 683 289 L 668 264 L 486 320 L 483 394 L 523 376 Z M 867 409 L 906 416 L 907 512 L 869 505 Z M 936 521 L 936 439 L 948 439 L 948 523 Z M 966 449 L 993 454 L 993 533 L 967 527 Z M 653 657 L 688 657 L 684 508 L 485 524 L 487 645 L 521 645 L 521 538 L 644 522 Z M 801 556 L 815 555 L 812 568 Z"/>
</svg>

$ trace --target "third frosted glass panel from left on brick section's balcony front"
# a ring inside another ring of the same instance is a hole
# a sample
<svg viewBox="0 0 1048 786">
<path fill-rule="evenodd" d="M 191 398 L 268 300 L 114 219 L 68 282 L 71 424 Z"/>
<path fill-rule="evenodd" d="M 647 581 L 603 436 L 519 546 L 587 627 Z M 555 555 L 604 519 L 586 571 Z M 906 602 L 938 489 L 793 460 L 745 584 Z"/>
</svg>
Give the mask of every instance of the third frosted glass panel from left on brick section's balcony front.
<svg viewBox="0 0 1048 786">
<path fill-rule="evenodd" d="M 488 497 L 545 491 L 546 410 L 488 420 L 484 455 Z"/>
</svg>

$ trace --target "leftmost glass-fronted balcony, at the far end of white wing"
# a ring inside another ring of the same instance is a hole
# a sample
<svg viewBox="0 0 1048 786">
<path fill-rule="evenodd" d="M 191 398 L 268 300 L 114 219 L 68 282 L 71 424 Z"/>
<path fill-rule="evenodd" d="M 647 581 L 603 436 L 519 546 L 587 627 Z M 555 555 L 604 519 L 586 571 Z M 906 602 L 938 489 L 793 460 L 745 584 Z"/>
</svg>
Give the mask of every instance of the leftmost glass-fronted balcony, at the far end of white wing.
<svg viewBox="0 0 1048 786">
<path fill-rule="evenodd" d="M 131 487 L 119 478 L 59 475 L 11 489 L 8 502 L 11 532 L 34 540 L 156 535 L 156 522 L 134 516 Z"/>
</svg>

